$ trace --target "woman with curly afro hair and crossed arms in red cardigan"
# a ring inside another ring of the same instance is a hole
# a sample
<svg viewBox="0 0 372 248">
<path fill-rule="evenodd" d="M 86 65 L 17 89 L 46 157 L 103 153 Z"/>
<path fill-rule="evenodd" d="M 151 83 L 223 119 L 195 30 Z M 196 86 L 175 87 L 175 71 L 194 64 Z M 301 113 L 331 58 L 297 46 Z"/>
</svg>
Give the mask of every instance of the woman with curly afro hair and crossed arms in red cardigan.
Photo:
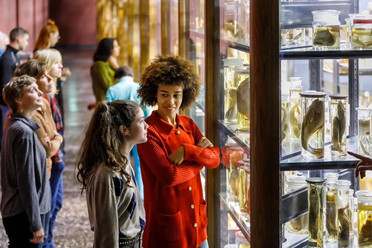
<svg viewBox="0 0 372 248">
<path fill-rule="evenodd" d="M 145 248 L 208 248 L 199 171 L 218 167 L 219 149 L 190 117 L 177 115 L 195 103 L 199 90 L 193 65 L 176 55 L 157 55 L 141 75 L 141 104 L 158 106 L 145 120 L 148 141 L 138 144 Z"/>
</svg>

